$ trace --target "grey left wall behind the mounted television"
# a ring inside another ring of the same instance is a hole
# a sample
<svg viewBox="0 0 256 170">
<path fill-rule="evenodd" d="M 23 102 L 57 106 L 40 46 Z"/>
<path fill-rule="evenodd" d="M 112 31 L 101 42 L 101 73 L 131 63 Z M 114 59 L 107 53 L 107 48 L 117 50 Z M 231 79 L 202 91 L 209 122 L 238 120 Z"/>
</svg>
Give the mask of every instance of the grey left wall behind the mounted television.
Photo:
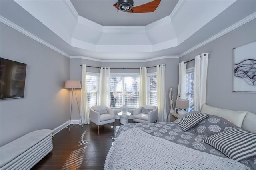
<svg viewBox="0 0 256 170">
<path fill-rule="evenodd" d="M 69 58 L 1 22 L 1 57 L 27 64 L 25 97 L 1 100 L 1 146 L 69 120 Z"/>
</svg>

